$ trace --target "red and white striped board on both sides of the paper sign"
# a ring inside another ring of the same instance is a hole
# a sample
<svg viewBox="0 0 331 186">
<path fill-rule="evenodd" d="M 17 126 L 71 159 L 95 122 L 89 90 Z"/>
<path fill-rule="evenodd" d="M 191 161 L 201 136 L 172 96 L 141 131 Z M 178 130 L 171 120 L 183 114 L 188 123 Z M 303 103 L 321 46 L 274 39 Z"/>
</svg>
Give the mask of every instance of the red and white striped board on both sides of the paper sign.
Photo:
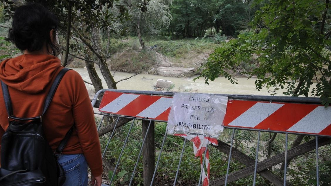
<svg viewBox="0 0 331 186">
<path fill-rule="evenodd" d="M 167 121 L 171 101 L 171 97 L 106 91 L 99 111 Z M 229 99 L 223 126 L 331 136 L 331 106 Z"/>
</svg>

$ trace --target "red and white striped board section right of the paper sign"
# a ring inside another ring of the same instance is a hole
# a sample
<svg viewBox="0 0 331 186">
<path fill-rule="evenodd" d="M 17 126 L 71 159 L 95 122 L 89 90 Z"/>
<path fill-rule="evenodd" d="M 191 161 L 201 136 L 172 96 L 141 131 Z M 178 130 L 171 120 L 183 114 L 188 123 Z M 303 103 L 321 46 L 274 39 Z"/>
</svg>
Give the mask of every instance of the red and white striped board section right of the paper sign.
<svg viewBox="0 0 331 186">
<path fill-rule="evenodd" d="M 229 100 L 224 127 L 331 136 L 331 107 Z"/>
</svg>

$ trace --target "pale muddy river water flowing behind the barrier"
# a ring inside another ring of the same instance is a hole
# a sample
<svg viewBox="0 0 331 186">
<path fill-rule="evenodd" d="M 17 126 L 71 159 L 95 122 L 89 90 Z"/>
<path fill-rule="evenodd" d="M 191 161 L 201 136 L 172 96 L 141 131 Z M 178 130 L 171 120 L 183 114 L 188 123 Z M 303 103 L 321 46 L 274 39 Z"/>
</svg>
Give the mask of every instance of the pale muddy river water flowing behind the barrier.
<svg viewBox="0 0 331 186">
<path fill-rule="evenodd" d="M 76 70 L 82 78 L 91 82 L 87 70 L 81 68 L 72 68 Z M 99 69 L 96 69 L 99 77 L 102 80 L 104 88 L 107 88 L 106 82 L 103 79 Z M 115 81 L 125 79 L 133 75 L 132 73 L 125 72 L 115 72 L 111 71 L 114 74 Z M 255 89 L 255 78 L 247 79 L 246 77 L 236 78 L 238 84 L 232 84 L 229 80 L 224 77 L 218 77 L 214 81 L 209 81 L 209 85 L 205 84 L 204 78 L 200 78 L 196 81 L 193 81 L 194 77 L 164 77 L 160 75 L 153 74 L 138 74 L 131 77 L 130 79 L 120 81 L 117 84 L 117 89 L 121 90 L 145 90 L 145 91 L 154 91 L 154 84 L 157 79 L 169 80 L 174 83 L 174 88 L 171 91 L 192 91 L 198 93 L 215 93 L 215 94 L 245 94 L 245 95 L 270 95 L 266 88 L 258 91 Z M 86 83 L 85 83 L 86 84 Z M 90 95 L 93 96 L 93 86 L 86 84 L 87 89 L 90 92 Z M 165 90 L 166 91 L 166 90 Z M 277 94 L 281 95 L 281 94 Z"/>
</svg>

